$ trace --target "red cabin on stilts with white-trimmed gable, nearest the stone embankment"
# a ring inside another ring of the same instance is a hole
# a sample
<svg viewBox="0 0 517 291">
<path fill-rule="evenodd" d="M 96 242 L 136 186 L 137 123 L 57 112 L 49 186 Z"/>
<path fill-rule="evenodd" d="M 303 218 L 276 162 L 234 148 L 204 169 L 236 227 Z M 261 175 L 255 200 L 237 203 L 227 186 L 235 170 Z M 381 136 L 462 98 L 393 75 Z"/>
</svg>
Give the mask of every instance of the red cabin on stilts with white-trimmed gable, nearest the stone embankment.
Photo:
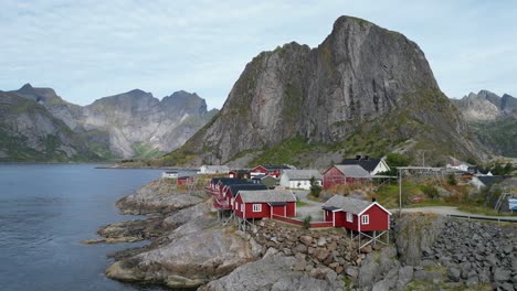
<svg viewBox="0 0 517 291">
<path fill-rule="evenodd" d="M 391 213 L 377 202 L 334 195 L 321 208 L 325 222 L 333 222 L 335 227 L 342 226 L 354 231 L 390 229 Z"/>
</svg>

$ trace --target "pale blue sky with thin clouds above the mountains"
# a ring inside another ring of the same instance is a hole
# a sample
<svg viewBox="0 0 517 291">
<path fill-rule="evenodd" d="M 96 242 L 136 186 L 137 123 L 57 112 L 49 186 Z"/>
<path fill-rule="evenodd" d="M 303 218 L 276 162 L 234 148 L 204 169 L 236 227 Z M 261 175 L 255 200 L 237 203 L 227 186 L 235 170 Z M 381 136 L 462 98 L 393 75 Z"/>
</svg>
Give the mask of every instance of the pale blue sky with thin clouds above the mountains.
<svg viewBox="0 0 517 291">
<path fill-rule="evenodd" d="M 450 97 L 517 97 L 511 0 L 0 0 L 0 90 L 52 87 L 87 105 L 135 88 L 196 91 L 221 108 L 262 51 L 316 47 L 340 15 L 416 42 Z"/>
</svg>

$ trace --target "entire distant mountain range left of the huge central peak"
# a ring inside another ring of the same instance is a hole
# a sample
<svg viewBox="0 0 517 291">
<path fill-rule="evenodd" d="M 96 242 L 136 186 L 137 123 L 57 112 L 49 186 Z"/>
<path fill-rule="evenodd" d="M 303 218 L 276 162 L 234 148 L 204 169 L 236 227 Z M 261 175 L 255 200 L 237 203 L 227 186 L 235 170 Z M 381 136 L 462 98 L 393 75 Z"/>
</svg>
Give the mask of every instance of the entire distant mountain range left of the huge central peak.
<svg viewBox="0 0 517 291">
<path fill-rule="evenodd" d="M 92 161 L 155 158 L 171 151 L 204 126 L 197 94 L 176 91 L 161 101 L 135 89 L 88 106 L 30 84 L 0 91 L 0 161 Z"/>
</svg>

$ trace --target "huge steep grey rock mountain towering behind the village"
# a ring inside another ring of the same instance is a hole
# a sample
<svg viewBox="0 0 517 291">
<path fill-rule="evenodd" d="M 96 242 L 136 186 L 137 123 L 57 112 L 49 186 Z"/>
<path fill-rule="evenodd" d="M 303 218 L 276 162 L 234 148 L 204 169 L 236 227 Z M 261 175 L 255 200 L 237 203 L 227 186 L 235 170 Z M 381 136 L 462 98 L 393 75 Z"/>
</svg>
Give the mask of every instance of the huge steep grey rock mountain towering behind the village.
<svg viewBox="0 0 517 291">
<path fill-rule="evenodd" d="M 293 42 L 254 57 L 218 118 L 160 162 L 326 166 L 392 150 L 483 154 L 414 42 L 341 17 L 318 47 Z"/>
</svg>

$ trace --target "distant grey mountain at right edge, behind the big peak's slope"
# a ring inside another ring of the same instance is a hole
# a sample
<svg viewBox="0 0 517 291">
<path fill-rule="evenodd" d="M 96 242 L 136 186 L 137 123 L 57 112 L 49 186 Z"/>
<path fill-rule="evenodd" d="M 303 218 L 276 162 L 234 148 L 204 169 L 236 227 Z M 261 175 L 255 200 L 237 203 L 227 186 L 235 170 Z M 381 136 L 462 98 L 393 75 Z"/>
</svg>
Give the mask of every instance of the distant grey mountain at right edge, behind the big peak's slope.
<svg viewBox="0 0 517 291">
<path fill-rule="evenodd" d="M 486 148 L 496 154 L 517 158 L 517 98 L 481 90 L 451 100 Z"/>
</svg>

